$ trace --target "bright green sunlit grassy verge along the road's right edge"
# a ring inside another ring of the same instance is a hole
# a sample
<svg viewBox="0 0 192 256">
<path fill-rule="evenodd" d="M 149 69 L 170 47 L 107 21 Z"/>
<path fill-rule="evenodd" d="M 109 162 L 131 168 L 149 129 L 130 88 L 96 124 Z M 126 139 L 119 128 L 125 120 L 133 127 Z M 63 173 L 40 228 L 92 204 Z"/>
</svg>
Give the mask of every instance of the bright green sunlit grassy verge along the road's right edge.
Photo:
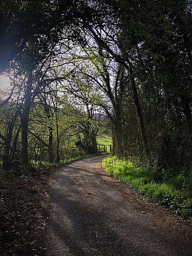
<svg viewBox="0 0 192 256">
<path fill-rule="evenodd" d="M 154 172 L 149 167 L 139 167 L 137 163 L 117 157 L 105 158 L 102 165 L 108 173 L 139 193 L 192 221 L 192 178 L 173 169 Z"/>
</svg>

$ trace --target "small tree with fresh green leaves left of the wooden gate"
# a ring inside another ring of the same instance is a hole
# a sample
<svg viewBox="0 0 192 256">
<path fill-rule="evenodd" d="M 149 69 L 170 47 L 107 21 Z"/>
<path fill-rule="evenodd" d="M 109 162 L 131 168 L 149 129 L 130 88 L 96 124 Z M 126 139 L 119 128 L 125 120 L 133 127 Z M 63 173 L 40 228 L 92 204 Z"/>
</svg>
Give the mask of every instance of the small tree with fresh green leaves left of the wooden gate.
<svg viewBox="0 0 192 256">
<path fill-rule="evenodd" d="M 86 154 L 93 154 L 98 151 L 96 139 L 100 126 L 106 118 L 103 109 L 98 106 L 102 99 L 94 88 L 93 79 L 86 72 L 75 68 L 73 67 L 73 73 L 71 77 L 67 77 L 67 83 L 63 88 L 69 98 L 68 104 L 71 108 L 73 106 L 72 115 L 76 116 L 76 122 L 72 125 L 74 134 L 78 136 L 76 145 Z M 83 65 L 81 68 L 85 69 Z"/>
</svg>

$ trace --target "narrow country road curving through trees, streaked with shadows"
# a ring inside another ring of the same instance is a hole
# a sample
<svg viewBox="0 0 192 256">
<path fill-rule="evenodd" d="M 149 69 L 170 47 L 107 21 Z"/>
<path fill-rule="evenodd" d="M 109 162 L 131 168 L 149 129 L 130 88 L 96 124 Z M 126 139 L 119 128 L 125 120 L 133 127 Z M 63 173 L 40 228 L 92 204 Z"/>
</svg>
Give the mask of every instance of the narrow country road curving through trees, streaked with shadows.
<svg viewBox="0 0 192 256">
<path fill-rule="evenodd" d="M 50 190 L 46 255 L 185 256 L 173 237 L 134 207 L 100 168 L 103 156 L 62 167 Z"/>
</svg>

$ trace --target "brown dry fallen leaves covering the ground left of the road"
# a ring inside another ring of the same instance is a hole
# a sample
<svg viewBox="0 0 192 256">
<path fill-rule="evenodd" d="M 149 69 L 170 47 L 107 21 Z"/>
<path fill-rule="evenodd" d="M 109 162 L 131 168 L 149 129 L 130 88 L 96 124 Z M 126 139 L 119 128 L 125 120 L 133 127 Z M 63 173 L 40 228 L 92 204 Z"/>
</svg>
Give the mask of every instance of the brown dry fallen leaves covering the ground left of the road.
<svg viewBox="0 0 192 256">
<path fill-rule="evenodd" d="M 1 189 L 0 254 L 39 255 L 41 232 L 45 228 L 46 212 L 44 184 L 51 170 L 34 172 L 7 182 Z M 27 178 L 26 178 L 27 177 Z"/>
</svg>

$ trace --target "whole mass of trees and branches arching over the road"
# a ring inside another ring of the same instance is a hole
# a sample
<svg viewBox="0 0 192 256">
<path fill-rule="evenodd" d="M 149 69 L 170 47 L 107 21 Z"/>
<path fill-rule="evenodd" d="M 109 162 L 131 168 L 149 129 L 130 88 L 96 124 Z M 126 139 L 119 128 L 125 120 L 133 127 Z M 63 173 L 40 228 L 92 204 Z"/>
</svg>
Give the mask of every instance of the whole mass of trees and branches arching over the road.
<svg viewBox="0 0 192 256">
<path fill-rule="evenodd" d="M 191 170 L 190 1 L 4 0 L 0 12 L 5 167 L 95 153 L 108 118 L 114 155 Z"/>
</svg>

